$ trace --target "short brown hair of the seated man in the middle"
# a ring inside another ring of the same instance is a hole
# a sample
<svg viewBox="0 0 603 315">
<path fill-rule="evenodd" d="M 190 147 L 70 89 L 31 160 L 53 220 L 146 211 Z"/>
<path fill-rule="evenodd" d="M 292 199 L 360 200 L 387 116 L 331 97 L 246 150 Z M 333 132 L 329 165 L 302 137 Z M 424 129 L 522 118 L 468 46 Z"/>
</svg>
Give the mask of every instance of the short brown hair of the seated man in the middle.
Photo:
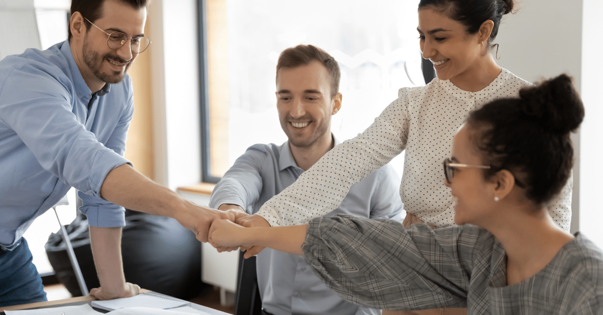
<svg viewBox="0 0 603 315">
<path fill-rule="evenodd" d="M 339 79 L 341 78 L 339 64 L 332 55 L 327 54 L 326 51 L 323 51 L 323 49 L 320 49 L 316 46 L 297 45 L 295 47 L 287 48 L 281 52 L 279 62 L 276 64 L 277 78 L 281 68 L 305 66 L 312 60 L 319 61 L 324 67 L 327 68 L 331 83 L 331 98 L 333 98 L 339 92 Z"/>
</svg>

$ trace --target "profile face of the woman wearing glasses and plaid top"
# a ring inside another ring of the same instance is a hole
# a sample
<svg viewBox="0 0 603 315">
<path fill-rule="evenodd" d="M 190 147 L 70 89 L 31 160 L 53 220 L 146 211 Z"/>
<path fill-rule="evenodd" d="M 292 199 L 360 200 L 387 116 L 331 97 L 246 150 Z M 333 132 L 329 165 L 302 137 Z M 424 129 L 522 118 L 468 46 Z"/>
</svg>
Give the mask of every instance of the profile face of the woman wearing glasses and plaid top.
<svg viewBox="0 0 603 315">
<path fill-rule="evenodd" d="M 475 151 L 470 140 L 470 129 L 464 125 L 454 136 L 452 142 L 453 163 L 482 165 L 481 158 Z M 454 177 L 450 183 L 444 180 L 444 184 L 452 189 L 455 199 L 454 221 L 458 225 L 471 223 L 484 226 L 485 220 L 491 218 L 494 202 L 494 190 L 496 182 L 488 182 L 484 179 L 482 169 L 477 167 L 454 167 Z"/>
</svg>

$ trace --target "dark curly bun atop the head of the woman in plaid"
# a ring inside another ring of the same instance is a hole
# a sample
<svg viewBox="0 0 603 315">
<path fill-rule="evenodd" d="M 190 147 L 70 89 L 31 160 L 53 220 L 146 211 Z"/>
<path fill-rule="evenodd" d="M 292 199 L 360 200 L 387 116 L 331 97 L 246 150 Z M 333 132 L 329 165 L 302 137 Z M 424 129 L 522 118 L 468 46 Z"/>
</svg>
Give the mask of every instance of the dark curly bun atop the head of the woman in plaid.
<svg viewBox="0 0 603 315">
<path fill-rule="evenodd" d="M 584 119 L 584 105 L 566 74 L 519 91 L 522 111 L 551 133 L 574 131 Z"/>
</svg>

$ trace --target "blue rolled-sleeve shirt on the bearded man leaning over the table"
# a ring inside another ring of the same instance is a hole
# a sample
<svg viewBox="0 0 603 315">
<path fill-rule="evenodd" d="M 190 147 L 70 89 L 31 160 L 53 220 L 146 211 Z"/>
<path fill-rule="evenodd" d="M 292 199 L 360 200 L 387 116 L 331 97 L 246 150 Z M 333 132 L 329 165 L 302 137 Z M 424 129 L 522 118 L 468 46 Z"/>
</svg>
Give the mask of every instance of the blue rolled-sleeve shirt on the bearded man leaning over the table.
<svg viewBox="0 0 603 315">
<path fill-rule="evenodd" d="M 110 170 L 129 163 L 133 111 L 130 78 L 92 93 L 68 41 L 0 61 L 0 246 L 14 248 L 70 187 L 90 225 L 125 225 L 124 208 L 100 189 Z"/>
</svg>

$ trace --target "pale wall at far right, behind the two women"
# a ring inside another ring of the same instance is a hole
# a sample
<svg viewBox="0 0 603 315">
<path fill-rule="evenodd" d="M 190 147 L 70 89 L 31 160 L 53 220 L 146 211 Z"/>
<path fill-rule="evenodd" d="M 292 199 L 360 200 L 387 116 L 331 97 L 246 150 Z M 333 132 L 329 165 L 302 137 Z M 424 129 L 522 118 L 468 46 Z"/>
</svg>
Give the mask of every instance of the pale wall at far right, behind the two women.
<svg viewBox="0 0 603 315">
<path fill-rule="evenodd" d="M 497 42 L 499 64 L 536 82 L 566 72 L 582 96 L 586 117 L 572 135 L 576 160 L 572 199 L 572 231 L 581 231 L 603 248 L 603 96 L 599 75 L 603 66 L 598 40 L 600 0 L 522 0 L 519 11 L 505 17 Z"/>
</svg>

